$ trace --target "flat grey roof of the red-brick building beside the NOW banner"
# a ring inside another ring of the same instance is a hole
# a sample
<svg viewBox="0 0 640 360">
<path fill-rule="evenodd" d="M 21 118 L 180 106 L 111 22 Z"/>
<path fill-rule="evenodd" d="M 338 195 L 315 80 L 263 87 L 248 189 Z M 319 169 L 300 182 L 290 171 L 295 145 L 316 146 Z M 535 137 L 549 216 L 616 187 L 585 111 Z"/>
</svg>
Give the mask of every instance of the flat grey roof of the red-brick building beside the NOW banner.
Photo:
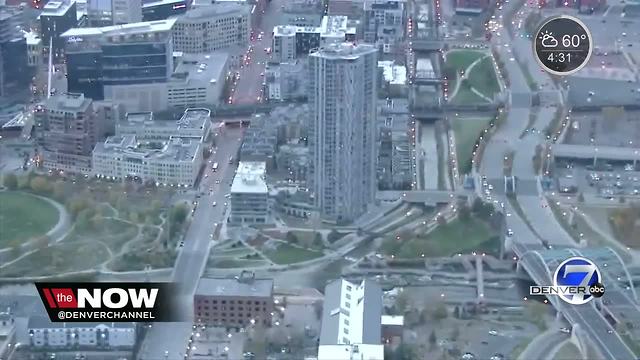
<svg viewBox="0 0 640 360">
<path fill-rule="evenodd" d="M 271 297 L 273 295 L 273 279 L 256 279 L 244 274 L 233 278 L 203 277 L 198 281 L 196 295 Z"/>
</svg>

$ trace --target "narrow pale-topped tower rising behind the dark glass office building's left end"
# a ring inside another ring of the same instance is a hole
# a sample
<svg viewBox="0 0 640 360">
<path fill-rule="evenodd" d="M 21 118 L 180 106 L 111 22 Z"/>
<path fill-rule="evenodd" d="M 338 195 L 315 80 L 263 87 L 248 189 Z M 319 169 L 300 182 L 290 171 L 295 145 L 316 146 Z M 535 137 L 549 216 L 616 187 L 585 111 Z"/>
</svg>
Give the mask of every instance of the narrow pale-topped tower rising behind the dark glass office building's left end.
<svg viewBox="0 0 640 360">
<path fill-rule="evenodd" d="M 75 0 L 49 1 L 39 16 L 42 44 L 49 49 L 52 41 L 54 60 L 60 61 L 64 55 L 65 41 L 61 35 L 78 25 L 78 13 Z"/>
</svg>

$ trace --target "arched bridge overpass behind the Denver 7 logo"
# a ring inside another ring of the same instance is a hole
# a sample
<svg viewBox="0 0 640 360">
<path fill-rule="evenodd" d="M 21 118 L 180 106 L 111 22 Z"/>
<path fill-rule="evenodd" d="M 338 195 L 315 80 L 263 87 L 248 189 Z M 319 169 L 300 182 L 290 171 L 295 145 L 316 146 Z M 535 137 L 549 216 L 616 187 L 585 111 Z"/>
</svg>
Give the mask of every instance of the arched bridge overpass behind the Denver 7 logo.
<svg viewBox="0 0 640 360">
<path fill-rule="evenodd" d="M 549 296 L 548 300 L 572 326 L 577 325 L 584 331 L 590 339 L 590 343 L 596 345 L 606 360 L 636 358 L 636 355 L 615 332 L 603 314 L 603 312 L 615 312 L 616 309 L 622 307 L 627 311 L 632 309 L 631 312 L 638 314 L 632 316 L 640 317 L 631 276 L 615 251 L 611 248 L 575 249 L 568 247 L 552 250 L 545 249 L 541 245 L 519 242 L 514 242 L 513 251 L 518 258 L 518 268 L 526 271 L 535 283 L 542 285 L 553 283 L 552 278 L 556 267 L 567 258 L 584 256 L 601 265 L 600 271 L 604 277 L 603 282 L 606 284 L 604 295 L 606 302 L 596 300 L 585 305 L 571 305 L 557 296 Z M 594 303 L 596 304 L 594 305 Z M 598 309 L 598 303 L 601 303 L 600 308 L 603 311 Z M 634 324 L 634 327 L 637 328 L 638 325 L 640 323 Z"/>
</svg>

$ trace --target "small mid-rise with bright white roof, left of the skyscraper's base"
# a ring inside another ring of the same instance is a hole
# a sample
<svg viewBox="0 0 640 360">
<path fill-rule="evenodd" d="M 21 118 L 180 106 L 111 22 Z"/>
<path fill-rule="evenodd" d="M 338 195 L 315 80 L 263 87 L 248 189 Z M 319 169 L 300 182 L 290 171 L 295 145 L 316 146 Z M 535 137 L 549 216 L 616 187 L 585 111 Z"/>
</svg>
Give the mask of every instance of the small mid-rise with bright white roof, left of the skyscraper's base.
<svg viewBox="0 0 640 360">
<path fill-rule="evenodd" d="M 269 190 L 265 181 L 266 163 L 241 161 L 231 184 L 229 223 L 265 224 L 269 221 Z"/>
</svg>

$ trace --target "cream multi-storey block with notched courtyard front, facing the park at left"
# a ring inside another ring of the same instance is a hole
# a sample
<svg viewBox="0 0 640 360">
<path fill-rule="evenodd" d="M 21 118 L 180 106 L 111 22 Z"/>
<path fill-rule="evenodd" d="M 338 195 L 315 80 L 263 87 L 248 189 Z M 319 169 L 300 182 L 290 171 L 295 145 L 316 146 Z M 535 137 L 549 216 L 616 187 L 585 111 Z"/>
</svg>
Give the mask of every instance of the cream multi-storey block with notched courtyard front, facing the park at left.
<svg viewBox="0 0 640 360">
<path fill-rule="evenodd" d="M 192 138 L 161 142 L 111 136 L 93 150 L 93 173 L 107 179 L 193 186 L 202 165 L 202 143 Z"/>
</svg>

